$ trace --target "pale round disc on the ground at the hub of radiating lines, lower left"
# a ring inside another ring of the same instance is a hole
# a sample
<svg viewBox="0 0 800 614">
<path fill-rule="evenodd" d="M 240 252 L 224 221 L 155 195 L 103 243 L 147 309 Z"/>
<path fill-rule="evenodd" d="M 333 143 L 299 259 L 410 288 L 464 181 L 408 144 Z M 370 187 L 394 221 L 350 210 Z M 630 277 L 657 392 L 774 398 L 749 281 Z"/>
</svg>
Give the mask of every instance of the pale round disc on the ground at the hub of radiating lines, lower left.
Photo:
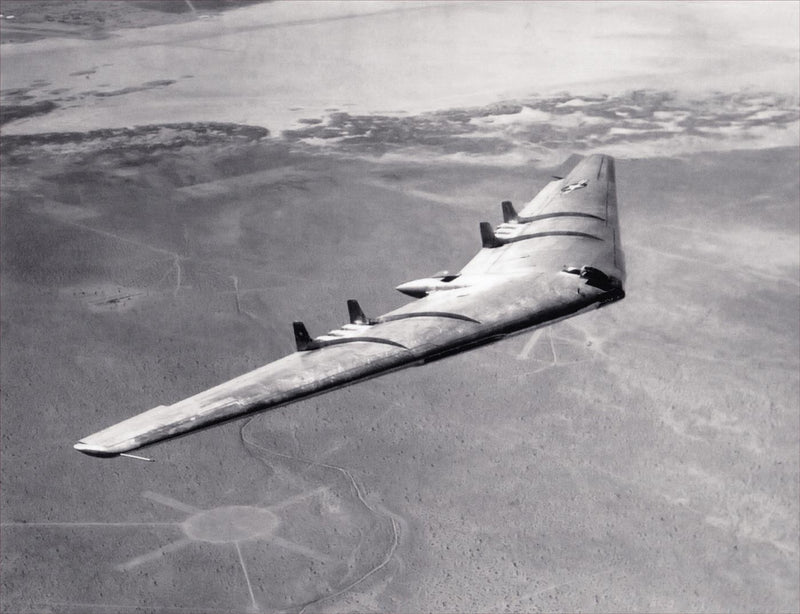
<svg viewBox="0 0 800 614">
<path fill-rule="evenodd" d="M 227 543 L 270 535 L 280 519 L 260 507 L 231 505 L 206 510 L 183 523 L 186 535 L 197 541 Z"/>
</svg>

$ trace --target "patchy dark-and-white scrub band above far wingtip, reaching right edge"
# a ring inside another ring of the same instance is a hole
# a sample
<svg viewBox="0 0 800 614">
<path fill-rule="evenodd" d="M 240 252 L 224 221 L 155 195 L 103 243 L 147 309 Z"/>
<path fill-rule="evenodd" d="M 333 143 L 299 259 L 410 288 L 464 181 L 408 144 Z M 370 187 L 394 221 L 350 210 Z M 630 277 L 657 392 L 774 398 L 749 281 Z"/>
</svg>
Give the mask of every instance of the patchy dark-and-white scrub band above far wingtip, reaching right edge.
<svg viewBox="0 0 800 614">
<path fill-rule="evenodd" d="M 525 110 L 540 114 L 527 120 Z M 726 128 L 743 132 L 797 121 L 797 103 L 759 92 L 716 94 L 700 100 L 672 92 L 634 90 L 615 96 L 563 93 L 520 102 L 404 115 L 353 115 L 337 111 L 325 121 L 304 120 L 283 134 L 292 140 L 330 141 L 346 151 L 375 154 L 423 146 L 442 154 L 500 154 L 517 143 L 550 149 L 582 150 L 631 141 L 657 141 L 681 135 L 725 138 Z M 497 124 L 518 116 L 518 121 Z M 560 118 L 575 118 L 559 121 Z M 509 138 L 512 137 L 512 138 Z"/>
</svg>

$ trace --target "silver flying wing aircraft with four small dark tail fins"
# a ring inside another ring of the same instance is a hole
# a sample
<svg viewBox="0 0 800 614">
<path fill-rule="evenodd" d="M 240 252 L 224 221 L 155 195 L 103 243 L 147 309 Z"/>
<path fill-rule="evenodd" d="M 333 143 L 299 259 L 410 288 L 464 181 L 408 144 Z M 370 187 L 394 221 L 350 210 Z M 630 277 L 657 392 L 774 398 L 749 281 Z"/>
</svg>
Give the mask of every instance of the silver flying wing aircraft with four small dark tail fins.
<svg viewBox="0 0 800 614">
<path fill-rule="evenodd" d="M 554 177 L 503 223 L 480 224 L 482 248 L 460 272 L 397 287 L 416 298 L 376 318 L 353 300 L 350 322 L 297 351 L 195 396 L 84 437 L 75 449 L 117 456 L 158 441 L 422 365 L 601 307 L 625 296 L 614 159 L 595 154 Z"/>
</svg>

